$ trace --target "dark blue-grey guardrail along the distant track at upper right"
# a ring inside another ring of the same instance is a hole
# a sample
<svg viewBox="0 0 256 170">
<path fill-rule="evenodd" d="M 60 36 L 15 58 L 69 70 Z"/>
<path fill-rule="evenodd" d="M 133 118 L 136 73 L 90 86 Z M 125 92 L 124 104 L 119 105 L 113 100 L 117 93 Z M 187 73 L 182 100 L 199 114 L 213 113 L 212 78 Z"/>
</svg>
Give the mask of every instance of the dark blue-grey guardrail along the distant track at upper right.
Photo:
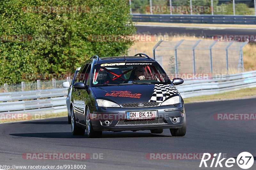
<svg viewBox="0 0 256 170">
<path fill-rule="evenodd" d="M 135 22 L 170 22 L 197 24 L 256 24 L 256 16 L 250 15 L 176 15 L 132 14 Z"/>
</svg>

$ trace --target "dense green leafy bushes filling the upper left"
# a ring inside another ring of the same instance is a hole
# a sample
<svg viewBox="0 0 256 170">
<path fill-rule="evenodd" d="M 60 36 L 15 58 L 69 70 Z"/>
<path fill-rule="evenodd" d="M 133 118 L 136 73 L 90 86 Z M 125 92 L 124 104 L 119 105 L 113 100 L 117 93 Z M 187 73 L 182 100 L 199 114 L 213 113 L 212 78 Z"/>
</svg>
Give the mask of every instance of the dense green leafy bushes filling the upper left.
<svg viewBox="0 0 256 170">
<path fill-rule="evenodd" d="M 38 12 L 33 6 L 86 10 Z M 92 55 L 120 55 L 121 48 L 126 52 L 132 41 L 92 42 L 90 37 L 134 33 L 130 7 L 124 0 L 1 0 L 0 84 L 20 83 L 29 73 L 73 72 Z M 23 41 L 13 42 L 11 35 L 23 36 Z"/>
</svg>

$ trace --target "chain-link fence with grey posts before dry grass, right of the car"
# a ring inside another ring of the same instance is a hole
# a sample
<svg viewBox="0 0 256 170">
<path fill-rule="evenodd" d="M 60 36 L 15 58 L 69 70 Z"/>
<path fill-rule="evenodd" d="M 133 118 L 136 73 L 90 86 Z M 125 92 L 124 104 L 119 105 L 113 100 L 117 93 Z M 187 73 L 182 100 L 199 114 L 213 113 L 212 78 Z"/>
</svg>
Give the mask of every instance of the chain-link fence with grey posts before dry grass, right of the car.
<svg viewBox="0 0 256 170">
<path fill-rule="evenodd" d="M 154 58 L 168 73 L 234 73 L 244 70 L 243 47 L 248 42 L 161 41 Z"/>
</svg>

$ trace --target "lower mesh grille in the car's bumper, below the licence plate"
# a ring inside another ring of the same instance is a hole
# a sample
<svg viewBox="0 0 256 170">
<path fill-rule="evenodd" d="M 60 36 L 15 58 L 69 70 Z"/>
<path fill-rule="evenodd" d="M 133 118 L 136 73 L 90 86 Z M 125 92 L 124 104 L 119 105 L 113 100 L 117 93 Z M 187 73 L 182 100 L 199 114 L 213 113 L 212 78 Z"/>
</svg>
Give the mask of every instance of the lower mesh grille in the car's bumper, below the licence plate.
<svg viewBox="0 0 256 170">
<path fill-rule="evenodd" d="M 151 120 L 119 120 L 116 126 L 132 126 L 132 125 L 158 125 L 167 124 L 163 119 L 151 119 Z"/>
</svg>

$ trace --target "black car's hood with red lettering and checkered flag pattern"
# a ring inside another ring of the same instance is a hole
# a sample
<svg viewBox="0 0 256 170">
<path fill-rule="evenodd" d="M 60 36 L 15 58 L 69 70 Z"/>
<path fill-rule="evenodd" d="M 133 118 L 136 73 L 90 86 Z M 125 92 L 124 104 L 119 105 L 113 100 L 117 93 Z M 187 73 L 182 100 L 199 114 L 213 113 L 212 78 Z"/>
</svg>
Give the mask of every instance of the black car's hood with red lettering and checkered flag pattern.
<svg viewBox="0 0 256 170">
<path fill-rule="evenodd" d="M 163 102 L 172 95 L 180 94 L 174 85 L 119 85 L 92 87 L 97 99 L 107 99 L 117 104 L 134 102 Z"/>
</svg>

